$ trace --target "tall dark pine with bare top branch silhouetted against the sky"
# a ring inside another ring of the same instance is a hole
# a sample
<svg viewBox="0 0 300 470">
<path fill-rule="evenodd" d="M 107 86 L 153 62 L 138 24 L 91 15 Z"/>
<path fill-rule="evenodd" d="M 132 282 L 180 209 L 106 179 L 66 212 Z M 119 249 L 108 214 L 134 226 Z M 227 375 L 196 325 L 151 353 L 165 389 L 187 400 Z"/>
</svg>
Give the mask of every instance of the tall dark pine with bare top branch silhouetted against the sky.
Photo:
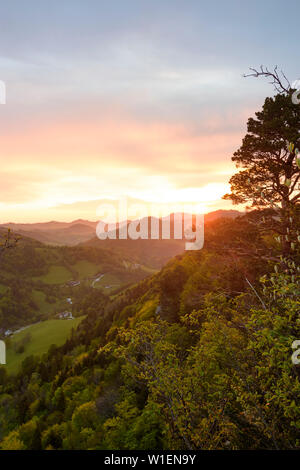
<svg viewBox="0 0 300 470">
<path fill-rule="evenodd" d="M 295 221 L 300 191 L 300 106 L 292 101 L 293 89 L 282 85 L 276 69 L 255 76 L 272 76 L 278 93 L 266 98 L 256 118 L 249 118 L 247 134 L 232 161 L 242 168 L 230 179 L 231 193 L 224 196 L 234 204 L 251 203 L 264 213 L 262 228 L 276 231 L 288 255 L 297 236 Z M 298 216 L 299 219 L 299 216 Z"/>
</svg>

